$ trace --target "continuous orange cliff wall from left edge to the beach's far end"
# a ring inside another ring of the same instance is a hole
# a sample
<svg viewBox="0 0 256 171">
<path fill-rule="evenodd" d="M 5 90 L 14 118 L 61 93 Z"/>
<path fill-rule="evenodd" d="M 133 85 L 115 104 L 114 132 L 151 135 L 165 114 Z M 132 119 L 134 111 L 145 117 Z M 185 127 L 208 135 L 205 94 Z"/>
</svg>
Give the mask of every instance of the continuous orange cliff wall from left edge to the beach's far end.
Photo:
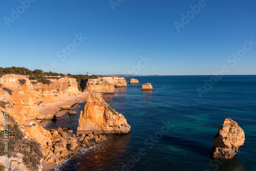
<svg viewBox="0 0 256 171">
<path fill-rule="evenodd" d="M 74 78 L 49 79 L 50 84 L 31 83 L 28 76 L 7 74 L 0 78 L 0 110 L 16 118 L 20 123 L 40 118 L 36 105 L 54 102 L 60 98 L 79 94 Z M 0 128 L 2 120 L 0 122 Z"/>
</svg>

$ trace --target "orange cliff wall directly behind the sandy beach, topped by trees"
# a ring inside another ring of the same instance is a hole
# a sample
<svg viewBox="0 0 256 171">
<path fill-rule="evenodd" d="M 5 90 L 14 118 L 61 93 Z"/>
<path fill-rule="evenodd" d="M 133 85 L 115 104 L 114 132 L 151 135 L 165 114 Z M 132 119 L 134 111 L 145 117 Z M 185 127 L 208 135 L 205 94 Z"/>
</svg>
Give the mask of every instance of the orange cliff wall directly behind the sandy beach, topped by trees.
<svg viewBox="0 0 256 171">
<path fill-rule="evenodd" d="M 79 94 L 77 81 L 74 78 L 49 79 L 50 84 L 42 84 L 41 82 L 33 84 L 35 102 L 40 101 L 51 103 L 72 95 Z"/>
</svg>

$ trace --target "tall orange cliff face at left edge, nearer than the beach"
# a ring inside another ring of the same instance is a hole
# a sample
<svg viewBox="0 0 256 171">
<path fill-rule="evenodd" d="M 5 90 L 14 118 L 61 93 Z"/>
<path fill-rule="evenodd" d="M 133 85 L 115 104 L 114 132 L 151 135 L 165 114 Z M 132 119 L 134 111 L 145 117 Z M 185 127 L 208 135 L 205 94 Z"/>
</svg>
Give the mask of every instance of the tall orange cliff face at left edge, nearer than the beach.
<svg viewBox="0 0 256 171">
<path fill-rule="evenodd" d="M 27 76 L 13 74 L 2 76 L 0 78 L 0 111 L 5 111 L 20 123 L 40 116 L 35 106 L 33 92 L 33 86 Z"/>
</svg>

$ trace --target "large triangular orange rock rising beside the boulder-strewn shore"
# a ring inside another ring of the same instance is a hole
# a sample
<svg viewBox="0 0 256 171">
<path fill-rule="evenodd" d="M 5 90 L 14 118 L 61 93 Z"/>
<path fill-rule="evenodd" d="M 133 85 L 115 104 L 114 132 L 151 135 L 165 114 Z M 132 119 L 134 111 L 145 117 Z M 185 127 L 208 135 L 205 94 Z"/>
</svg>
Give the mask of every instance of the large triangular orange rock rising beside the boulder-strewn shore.
<svg viewBox="0 0 256 171">
<path fill-rule="evenodd" d="M 93 132 L 124 134 L 130 132 L 130 128 L 124 116 L 112 109 L 99 92 L 93 91 L 81 111 L 77 135 Z"/>
</svg>

